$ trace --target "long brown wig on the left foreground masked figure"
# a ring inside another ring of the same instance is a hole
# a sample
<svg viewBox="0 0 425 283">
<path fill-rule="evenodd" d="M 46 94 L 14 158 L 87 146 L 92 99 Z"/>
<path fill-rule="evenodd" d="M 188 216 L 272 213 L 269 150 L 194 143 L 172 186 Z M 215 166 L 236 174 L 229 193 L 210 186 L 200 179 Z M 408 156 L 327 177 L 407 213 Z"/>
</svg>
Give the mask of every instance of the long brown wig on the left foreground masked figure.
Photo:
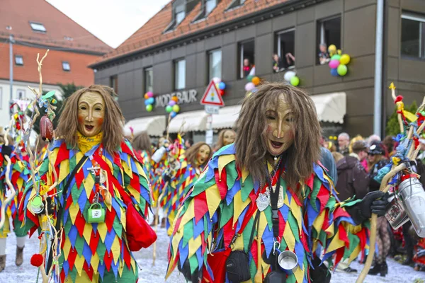
<svg viewBox="0 0 425 283">
<path fill-rule="evenodd" d="M 98 93 L 105 101 L 105 120 L 102 125 L 103 146 L 109 154 L 113 154 L 123 141 L 124 117 L 118 103 L 113 100 L 111 93 L 107 88 L 99 85 L 92 85 L 88 88 L 81 88 L 72 93 L 64 103 L 62 114 L 60 115 L 55 137 L 57 139 L 65 139 L 67 144 L 74 149 L 77 148 L 77 131 L 78 131 L 78 101 L 79 98 L 88 91 Z"/>
</svg>

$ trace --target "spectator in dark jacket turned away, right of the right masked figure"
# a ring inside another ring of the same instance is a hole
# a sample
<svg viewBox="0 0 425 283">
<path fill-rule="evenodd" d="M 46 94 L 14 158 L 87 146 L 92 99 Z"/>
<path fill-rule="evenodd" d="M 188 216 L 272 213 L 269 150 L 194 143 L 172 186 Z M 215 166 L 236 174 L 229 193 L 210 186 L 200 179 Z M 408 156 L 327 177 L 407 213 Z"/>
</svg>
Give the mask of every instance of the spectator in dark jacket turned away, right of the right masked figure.
<svg viewBox="0 0 425 283">
<path fill-rule="evenodd" d="M 368 146 L 365 141 L 356 141 L 353 144 L 353 153 L 344 156 L 336 163 L 338 182 L 336 191 L 339 192 L 339 200 L 344 201 L 352 197 L 361 200 L 368 193 L 369 178 L 365 168 L 361 165 L 368 156 Z M 337 270 L 344 272 L 357 272 L 346 261 L 339 262 Z"/>
</svg>

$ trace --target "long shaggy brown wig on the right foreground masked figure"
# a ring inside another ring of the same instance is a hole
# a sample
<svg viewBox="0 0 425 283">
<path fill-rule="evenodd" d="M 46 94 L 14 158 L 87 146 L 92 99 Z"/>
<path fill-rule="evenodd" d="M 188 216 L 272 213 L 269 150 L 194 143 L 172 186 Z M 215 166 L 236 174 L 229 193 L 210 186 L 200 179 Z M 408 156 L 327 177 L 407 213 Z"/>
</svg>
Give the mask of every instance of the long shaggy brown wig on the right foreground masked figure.
<svg viewBox="0 0 425 283">
<path fill-rule="evenodd" d="M 263 165 L 268 153 L 264 138 L 267 128 L 266 110 L 269 105 L 273 105 L 277 111 L 280 95 L 285 97 L 294 117 L 294 142 L 286 150 L 288 168 L 285 170 L 285 180 L 290 187 L 295 188 L 298 182 L 304 182 L 310 177 L 313 163 L 320 157 L 321 129 L 316 107 L 313 100 L 300 88 L 287 83 L 264 83 L 258 91 L 244 98 L 236 122 L 238 134 L 234 144 L 237 165 L 246 168 L 254 180 L 260 183 L 266 180 L 268 172 Z"/>
</svg>

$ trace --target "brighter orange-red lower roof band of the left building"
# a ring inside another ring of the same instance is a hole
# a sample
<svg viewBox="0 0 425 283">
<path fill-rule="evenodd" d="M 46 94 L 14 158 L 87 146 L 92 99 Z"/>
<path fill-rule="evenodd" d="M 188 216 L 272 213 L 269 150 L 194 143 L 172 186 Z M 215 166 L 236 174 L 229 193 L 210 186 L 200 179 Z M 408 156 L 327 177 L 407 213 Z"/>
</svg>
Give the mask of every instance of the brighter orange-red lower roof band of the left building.
<svg viewBox="0 0 425 283">
<path fill-rule="evenodd" d="M 45 54 L 45 49 L 13 45 L 13 54 L 22 55 L 23 66 L 16 66 L 13 58 L 13 79 L 15 81 L 28 81 L 38 83 L 37 53 L 40 57 Z M 0 43 L 0 79 L 9 78 L 8 43 Z M 87 67 L 98 56 L 74 52 L 50 50 L 42 63 L 42 82 L 47 84 L 75 83 L 76 86 L 90 86 L 94 83 L 94 72 Z M 62 61 L 69 62 L 70 71 L 62 69 Z"/>
</svg>

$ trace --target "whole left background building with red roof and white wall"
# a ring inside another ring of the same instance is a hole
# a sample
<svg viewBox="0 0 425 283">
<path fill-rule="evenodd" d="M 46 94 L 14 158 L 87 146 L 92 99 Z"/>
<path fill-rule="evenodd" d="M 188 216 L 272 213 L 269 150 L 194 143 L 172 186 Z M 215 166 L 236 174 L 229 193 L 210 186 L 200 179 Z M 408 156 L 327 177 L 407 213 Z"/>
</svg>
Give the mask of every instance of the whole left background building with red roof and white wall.
<svg viewBox="0 0 425 283">
<path fill-rule="evenodd" d="M 41 59 L 50 50 L 42 67 L 43 91 L 60 94 L 58 83 L 93 84 L 87 65 L 112 50 L 45 0 L 4 0 L 0 14 L 0 127 L 8 125 L 11 100 L 26 105 L 34 97 L 28 86 L 39 85 L 37 54 Z"/>
</svg>

